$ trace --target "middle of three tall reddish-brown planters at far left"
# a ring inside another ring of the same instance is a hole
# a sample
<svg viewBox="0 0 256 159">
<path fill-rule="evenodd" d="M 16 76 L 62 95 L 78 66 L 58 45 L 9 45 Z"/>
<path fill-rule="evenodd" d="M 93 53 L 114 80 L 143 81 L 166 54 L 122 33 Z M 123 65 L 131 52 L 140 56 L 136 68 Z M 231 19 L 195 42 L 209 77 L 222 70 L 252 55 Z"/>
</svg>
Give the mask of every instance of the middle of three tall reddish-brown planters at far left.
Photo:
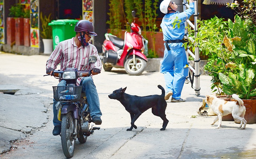
<svg viewBox="0 0 256 159">
<path fill-rule="evenodd" d="M 24 18 L 15 19 L 15 45 L 24 45 Z"/>
</svg>

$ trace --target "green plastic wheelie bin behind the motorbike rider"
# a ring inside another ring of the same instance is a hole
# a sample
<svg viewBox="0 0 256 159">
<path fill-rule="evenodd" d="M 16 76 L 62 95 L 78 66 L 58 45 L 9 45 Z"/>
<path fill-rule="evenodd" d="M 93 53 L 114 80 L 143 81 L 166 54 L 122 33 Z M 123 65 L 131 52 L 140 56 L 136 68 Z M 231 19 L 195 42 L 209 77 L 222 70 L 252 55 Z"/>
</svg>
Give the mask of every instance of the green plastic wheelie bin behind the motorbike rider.
<svg viewBox="0 0 256 159">
<path fill-rule="evenodd" d="M 48 23 L 48 25 L 52 26 L 53 30 L 53 49 L 55 49 L 61 41 L 75 37 L 74 29 L 77 22 L 78 20 L 59 19 Z"/>
</svg>

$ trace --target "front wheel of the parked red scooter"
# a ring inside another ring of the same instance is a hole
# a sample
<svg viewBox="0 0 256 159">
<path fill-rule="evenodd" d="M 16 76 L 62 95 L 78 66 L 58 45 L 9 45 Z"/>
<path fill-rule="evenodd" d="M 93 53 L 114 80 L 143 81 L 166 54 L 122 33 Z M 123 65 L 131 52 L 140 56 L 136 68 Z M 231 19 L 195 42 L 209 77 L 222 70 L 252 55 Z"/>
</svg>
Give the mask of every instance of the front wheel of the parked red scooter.
<svg viewBox="0 0 256 159">
<path fill-rule="evenodd" d="M 130 56 L 124 63 L 125 71 L 129 75 L 141 75 L 146 66 L 147 62 L 139 56 L 135 56 L 135 60 Z"/>
</svg>

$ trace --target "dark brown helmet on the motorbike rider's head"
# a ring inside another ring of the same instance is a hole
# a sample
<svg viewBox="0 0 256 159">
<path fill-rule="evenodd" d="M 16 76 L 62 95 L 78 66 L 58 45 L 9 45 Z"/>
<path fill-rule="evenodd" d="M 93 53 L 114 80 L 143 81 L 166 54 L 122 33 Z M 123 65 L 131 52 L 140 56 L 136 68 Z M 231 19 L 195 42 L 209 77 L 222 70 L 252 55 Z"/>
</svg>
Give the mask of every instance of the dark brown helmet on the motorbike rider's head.
<svg viewBox="0 0 256 159">
<path fill-rule="evenodd" d="M 97 34 L 94 32 L 93 23 L 87 20 L 80 20 L 75 24 L 75 32 L 83 32 L 86 31 L 90 33 L 92 36 L 97 36 Z"/>
</svg>

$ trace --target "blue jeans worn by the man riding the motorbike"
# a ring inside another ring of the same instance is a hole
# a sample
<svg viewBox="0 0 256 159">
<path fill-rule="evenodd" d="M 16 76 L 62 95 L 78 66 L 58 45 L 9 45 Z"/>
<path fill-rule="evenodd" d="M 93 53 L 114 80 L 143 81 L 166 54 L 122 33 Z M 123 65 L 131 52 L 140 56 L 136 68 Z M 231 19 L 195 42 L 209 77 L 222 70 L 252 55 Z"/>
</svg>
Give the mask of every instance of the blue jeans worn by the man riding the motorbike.
<svg viewBox="0 0 256 159">
<path fill-rule="evenodd" d="M 58 84 L 58 86 L 65 86 L 66 81 L 62 80 Z M 96 86 L 93 82 L 92 77 L 83 77 L 80 85 L 83 86 L 82 92 L 85 92 L 86 97 L 87 97 L 87 102 L 89 105 L 89 112 L 92 118 L 94 116 L 101 116 L 102 113 L 100 111 L 100 101 L 99 101 L 99 96 L 96 90 Z M 57 104 L 58 101 L 53 99 L 53 125 L 61 125 L 61 121 L 58 120 L 58 110 L 56 109 L 55 105 Z"/>
</svg>

